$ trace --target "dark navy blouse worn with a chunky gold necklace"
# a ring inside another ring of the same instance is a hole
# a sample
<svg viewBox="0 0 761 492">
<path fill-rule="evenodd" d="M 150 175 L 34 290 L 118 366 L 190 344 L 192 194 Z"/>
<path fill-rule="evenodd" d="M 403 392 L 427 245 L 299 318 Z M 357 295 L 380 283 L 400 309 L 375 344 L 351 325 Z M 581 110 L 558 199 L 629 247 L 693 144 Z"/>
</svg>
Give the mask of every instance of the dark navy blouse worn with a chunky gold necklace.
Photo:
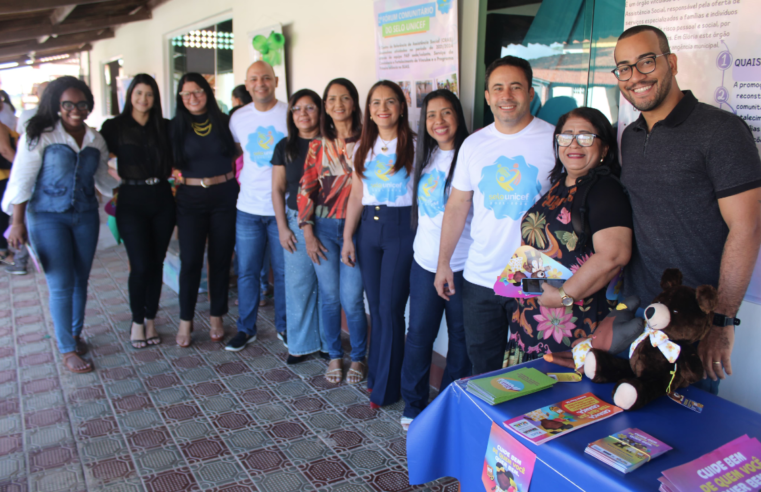
<svg viewBox="0 0 761 492">
<path fill-rule="evenodd" d="M 208 113 L 192 114 L 190 117 L 195 123 L 205 123 L 209 119 Z M 223 124 L 227 125 L 227 121 Z M 211 178 L 233 170 L 233 157 L 227 155 L 222 131 L 229 131 L 229 129 L 227 126 L 220 129 L 216 124 L 212 124 L 211 131 L 204 136 L 198 135 L 193 128 L 185 129 L 185 163 L 181 169 L 183 177 Z"/>
</svg>

